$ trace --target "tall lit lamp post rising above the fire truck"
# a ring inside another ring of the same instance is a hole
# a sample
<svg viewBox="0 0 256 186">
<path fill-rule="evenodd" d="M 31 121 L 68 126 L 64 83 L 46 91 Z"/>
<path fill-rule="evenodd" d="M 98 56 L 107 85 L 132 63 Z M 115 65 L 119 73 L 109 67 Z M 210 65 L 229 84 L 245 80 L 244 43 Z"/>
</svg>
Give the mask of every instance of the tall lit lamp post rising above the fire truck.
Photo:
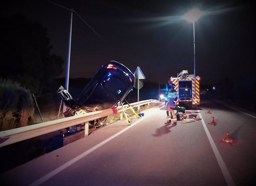
<svg viewBox="0 0 256 186">
<path fill-rule="evenodd" d="M 193 23 L 193 35 L 194 35 L 194 95 L 196 95 L 196 42 L 195 42 L 195 21 L 203 16 L 203 12 L 197 8 L 188 11 L 183 18 Z"/>
</svg>

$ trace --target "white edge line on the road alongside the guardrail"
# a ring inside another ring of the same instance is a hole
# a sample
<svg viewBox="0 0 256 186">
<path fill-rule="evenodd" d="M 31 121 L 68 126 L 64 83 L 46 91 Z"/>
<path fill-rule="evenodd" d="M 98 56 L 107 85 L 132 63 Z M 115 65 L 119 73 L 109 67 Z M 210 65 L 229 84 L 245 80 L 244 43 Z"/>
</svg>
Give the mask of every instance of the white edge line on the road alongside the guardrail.
<svg viewBox="0 0 256 186">
<path fill-rule="evenodd" d="M 62 170 L 68 168 L 70 165 L 72 165 L 73 163 L 77 162 L 78 160 L 82 159 L 83 157 L 85 157 L 86 155 L 88 155 L 89 153 L 95 151 L 96 149 L 98 149 L 99 147 L 101 147 L 102 145 L 104 145 L 105 143 L 109 142 L 111 139 L 114 139 L 116 136 L 120 135 L 121 133 L 127 131 L 129 128 L 135 126 L 136 124 L 138 124 L 139 122 L 143 121 L 147 116 L 144 116 L 143 118 L 140 118 L 138 121 L 135 121 L 132 125 L 127 126 L 126 128 L 122 129 L 122 131 L 119 131 L 118 133 L 116 133 L 115 135 L 109 137 L 108 139 L 105 139 L 104 141 L 102 141 L 101 143 L 99 143 L 98 145 L 95 145 L 94 147 L 92 147 L 91 149 L 83 152 L 81 155 L 76 156 L 75 158 L 73 158 L 72 160 L 66 162 L 65 164 L 63 164 L 62 166 L 58 167 L 57 169 L 53 170 L 52 172 L 48 173 L 47 175 L 39 178 L 38 180 L 36 180 L 35 182 L 31 183 L 29 186 L 37 186 L 37 185 L 41 185 L 43 182 L 46 182 L 47 180 L 49 180 L 51 177 L 55 176 L 56 174 L 58 174 L 59 172 L 61 172 Z"/>
</svg>

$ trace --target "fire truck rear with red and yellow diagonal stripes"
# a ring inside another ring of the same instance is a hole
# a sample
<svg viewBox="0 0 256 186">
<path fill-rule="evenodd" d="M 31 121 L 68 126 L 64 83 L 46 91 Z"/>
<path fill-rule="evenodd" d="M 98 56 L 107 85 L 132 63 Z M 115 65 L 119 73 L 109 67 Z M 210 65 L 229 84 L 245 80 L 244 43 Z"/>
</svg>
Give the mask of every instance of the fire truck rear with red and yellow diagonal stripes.
<svg viewBox="0 0 256 186">
<path fill-rule="evenodd" d="M 183 70 L 178 76 L 171 77 L 168 83 L 174 83 L 177 91 L 176 105 L 197 108 L 200 105 L 200 77 L 188 75 L 187 70 Z"/>
</svg>

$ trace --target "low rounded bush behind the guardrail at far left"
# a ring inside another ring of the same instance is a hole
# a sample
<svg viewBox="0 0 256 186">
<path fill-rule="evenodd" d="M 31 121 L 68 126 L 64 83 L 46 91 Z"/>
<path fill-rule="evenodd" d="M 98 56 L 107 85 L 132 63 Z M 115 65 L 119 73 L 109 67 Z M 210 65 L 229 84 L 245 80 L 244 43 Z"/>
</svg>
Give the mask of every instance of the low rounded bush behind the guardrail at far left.
<svg viewBox="0 0 256 186">
<path fill-rule="evenodd" d="M 29 90 L 0 78 L 0 131 L 34 124 L 34 110 Z"/>
</svg>

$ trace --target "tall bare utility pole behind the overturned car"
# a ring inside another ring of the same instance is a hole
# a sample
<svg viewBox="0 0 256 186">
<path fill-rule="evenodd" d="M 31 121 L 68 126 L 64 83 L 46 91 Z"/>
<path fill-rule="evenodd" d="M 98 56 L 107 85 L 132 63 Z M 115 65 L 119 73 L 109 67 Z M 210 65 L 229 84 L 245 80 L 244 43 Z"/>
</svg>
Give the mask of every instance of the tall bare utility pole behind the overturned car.
<svg viewBox="0 0 256 186">
<path fill-rule="evenodd" d="M 68 83 L 69 83 L 69 64 L 70 64 L 71 35 L 72 35 L 72 18 L 73 18 L 73 9 L 71 9 L 70 30 L 69 30 L 69 47 L 68 47 L 67 64 L 66 64 L 65 89 L 67 91 L 68 91 Z M 67 107 L 63 102 L 62 113 L 64 113 L 66 110 L 67 110 Z"/>
</svg>

